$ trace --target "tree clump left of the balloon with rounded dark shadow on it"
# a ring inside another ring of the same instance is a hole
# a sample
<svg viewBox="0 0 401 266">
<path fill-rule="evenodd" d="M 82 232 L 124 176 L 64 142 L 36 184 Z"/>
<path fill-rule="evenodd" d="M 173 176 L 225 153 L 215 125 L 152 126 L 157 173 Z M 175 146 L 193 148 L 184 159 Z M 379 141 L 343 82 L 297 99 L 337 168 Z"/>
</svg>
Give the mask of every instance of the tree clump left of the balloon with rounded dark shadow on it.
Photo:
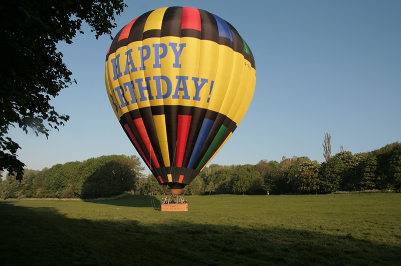
<svg viewBox="0 0 401 266">
<path fill-rule="evenodd" d="M 93 198 L 135 189 L 144 167 L 135 155 L 108 155 L 56 164 L 41 171 L 26 169 L 22 181 L 8 175 L 1 197 Z"/>
</svg>

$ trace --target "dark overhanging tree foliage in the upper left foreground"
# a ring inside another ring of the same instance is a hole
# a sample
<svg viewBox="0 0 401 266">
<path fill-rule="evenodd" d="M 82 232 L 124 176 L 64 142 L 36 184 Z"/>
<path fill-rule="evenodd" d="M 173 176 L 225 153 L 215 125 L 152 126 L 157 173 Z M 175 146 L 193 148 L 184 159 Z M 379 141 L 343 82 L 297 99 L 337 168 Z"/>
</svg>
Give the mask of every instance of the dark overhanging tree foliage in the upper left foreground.
<svg viewBox="0 0 401 266">
<path fill-rule="evenodd" d="M 10 126 L 28 133 L 49 135 L 69 119 L 50 104 L 60 90 L 75 80 L 57 51 L 59 41 L 72 38 L 86 21 L 98 38 L 116 26 L 114 13 L 123 0 L 1 1 L 0 24 L 0 170 L 22 180 L 25 164 L 17 158 L 20 145 L 8 136 Z"/>
</svg>

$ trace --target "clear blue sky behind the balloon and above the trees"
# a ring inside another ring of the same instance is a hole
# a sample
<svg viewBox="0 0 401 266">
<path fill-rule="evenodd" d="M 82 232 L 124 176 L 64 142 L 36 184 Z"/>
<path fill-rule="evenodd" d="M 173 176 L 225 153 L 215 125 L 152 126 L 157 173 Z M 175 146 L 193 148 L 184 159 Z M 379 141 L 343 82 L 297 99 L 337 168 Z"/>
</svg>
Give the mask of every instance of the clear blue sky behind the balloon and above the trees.
<svg viewBox="0 0 401 266">
<path fill-rule="evenodd" d="M 256 164 L 332 154 L 401 141 L 401 1 L 393 0 L 126 0 L 117 28 L 163 6 L 192 6 L 229 21 L 256 61 L 256 89 L 247 114 L 211 163 Z M 10 130 L 28 168 L 109 154 L 138 155 L 110 106 L 104 63 L 111 43 L 84 27 L 58 45 L 78 82 L 52 104 L 70 120 L 49 139 Z M 139 155 L 138 155 L 139 156 Z M 147 171 L 148 172 L 148 171 Z"/>
</svg>

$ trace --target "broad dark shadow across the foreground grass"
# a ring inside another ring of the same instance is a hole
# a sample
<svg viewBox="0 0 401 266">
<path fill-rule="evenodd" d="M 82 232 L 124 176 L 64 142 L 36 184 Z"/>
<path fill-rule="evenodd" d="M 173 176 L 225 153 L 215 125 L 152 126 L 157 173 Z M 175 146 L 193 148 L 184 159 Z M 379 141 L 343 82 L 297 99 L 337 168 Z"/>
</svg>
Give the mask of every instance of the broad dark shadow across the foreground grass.
<svg viewBox="0 0 401 266">
<path fill-rule="evenodd" d="M 75 219 L 53 208 L 10 201 L 0 202 L 0 228 L 2 265 L 388 266 L 401 261 L 401 247 L 351 235 L 188 221 L 172 226 Z"/>
</svg>

